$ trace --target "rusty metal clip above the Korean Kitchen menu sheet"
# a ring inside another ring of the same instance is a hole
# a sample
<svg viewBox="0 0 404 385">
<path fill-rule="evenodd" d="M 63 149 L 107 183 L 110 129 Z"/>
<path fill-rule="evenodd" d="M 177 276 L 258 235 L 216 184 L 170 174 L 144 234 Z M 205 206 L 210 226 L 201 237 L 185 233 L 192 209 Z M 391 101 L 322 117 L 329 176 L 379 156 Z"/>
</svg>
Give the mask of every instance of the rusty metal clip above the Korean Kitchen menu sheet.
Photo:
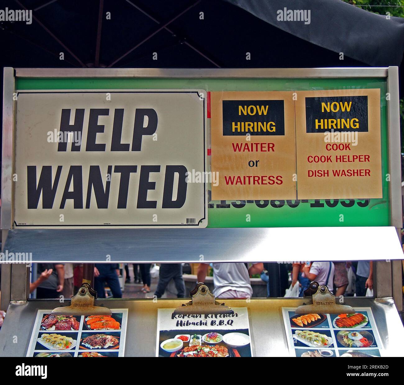
<svg viewBox="0 0 404 385">
<path fill-rule="evenodd" d="M 233 309 L 219 303 L 215 296 L 210 292 L 208 286 L 198 282 L 190 293 L 191 300 L 183 303 L 174 311 L 174 315 L 179 314 L 234 314 Z"/>
</svg>

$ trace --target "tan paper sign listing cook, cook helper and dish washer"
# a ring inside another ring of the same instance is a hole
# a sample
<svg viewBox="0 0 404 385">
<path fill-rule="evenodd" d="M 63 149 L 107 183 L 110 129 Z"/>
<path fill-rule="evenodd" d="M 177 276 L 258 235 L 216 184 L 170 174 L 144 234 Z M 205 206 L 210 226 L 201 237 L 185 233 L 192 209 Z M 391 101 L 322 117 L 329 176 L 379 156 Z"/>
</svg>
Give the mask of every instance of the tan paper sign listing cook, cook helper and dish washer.
<svg viewBox="0 0 404 385">
<path fill-rule="evenodd" d="M 299 91 L 298 199 L 382 198 L 380 90 Z"/>
</svg>

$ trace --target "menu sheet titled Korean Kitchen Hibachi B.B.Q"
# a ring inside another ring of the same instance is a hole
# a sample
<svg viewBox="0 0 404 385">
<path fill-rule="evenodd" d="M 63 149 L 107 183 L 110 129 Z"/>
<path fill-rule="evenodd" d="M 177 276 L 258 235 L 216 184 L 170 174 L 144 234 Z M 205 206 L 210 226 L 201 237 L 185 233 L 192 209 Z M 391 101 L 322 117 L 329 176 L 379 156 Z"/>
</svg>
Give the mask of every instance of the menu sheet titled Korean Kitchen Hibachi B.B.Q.
<svg viewBox="0 0 404 385">
<path fill-rule="evenodd" d="M 174 315 L 158 309 L 156 357 L 252 357 L 246 307 L 234 314 Z"/>
</svg>

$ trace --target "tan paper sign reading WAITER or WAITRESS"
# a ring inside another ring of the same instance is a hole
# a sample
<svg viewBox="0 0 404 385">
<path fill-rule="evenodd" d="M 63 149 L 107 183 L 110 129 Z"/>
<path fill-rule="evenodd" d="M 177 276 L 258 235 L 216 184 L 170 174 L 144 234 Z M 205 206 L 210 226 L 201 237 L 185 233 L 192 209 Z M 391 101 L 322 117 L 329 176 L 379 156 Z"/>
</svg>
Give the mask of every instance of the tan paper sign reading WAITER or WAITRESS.
<svg viewBox="0 0 404 385">
<path fill-rule="evenodd" d="M 212 199 L 296 199 L 292 92 L 210 95 Z"/>
</svg>

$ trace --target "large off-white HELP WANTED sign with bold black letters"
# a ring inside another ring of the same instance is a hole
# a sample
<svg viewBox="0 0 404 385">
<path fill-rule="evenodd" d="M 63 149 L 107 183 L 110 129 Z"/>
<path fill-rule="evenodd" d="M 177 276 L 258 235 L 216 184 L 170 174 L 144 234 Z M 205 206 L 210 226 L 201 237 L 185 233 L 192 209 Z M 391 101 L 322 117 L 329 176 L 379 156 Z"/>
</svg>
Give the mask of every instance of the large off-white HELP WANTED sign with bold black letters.
<svg viewBox="0 0 404 385">
<path fill-rule="evenodd" d="M 14 226 L 206 227 L 205 96 L 18 91 Z"/>
</svg>

